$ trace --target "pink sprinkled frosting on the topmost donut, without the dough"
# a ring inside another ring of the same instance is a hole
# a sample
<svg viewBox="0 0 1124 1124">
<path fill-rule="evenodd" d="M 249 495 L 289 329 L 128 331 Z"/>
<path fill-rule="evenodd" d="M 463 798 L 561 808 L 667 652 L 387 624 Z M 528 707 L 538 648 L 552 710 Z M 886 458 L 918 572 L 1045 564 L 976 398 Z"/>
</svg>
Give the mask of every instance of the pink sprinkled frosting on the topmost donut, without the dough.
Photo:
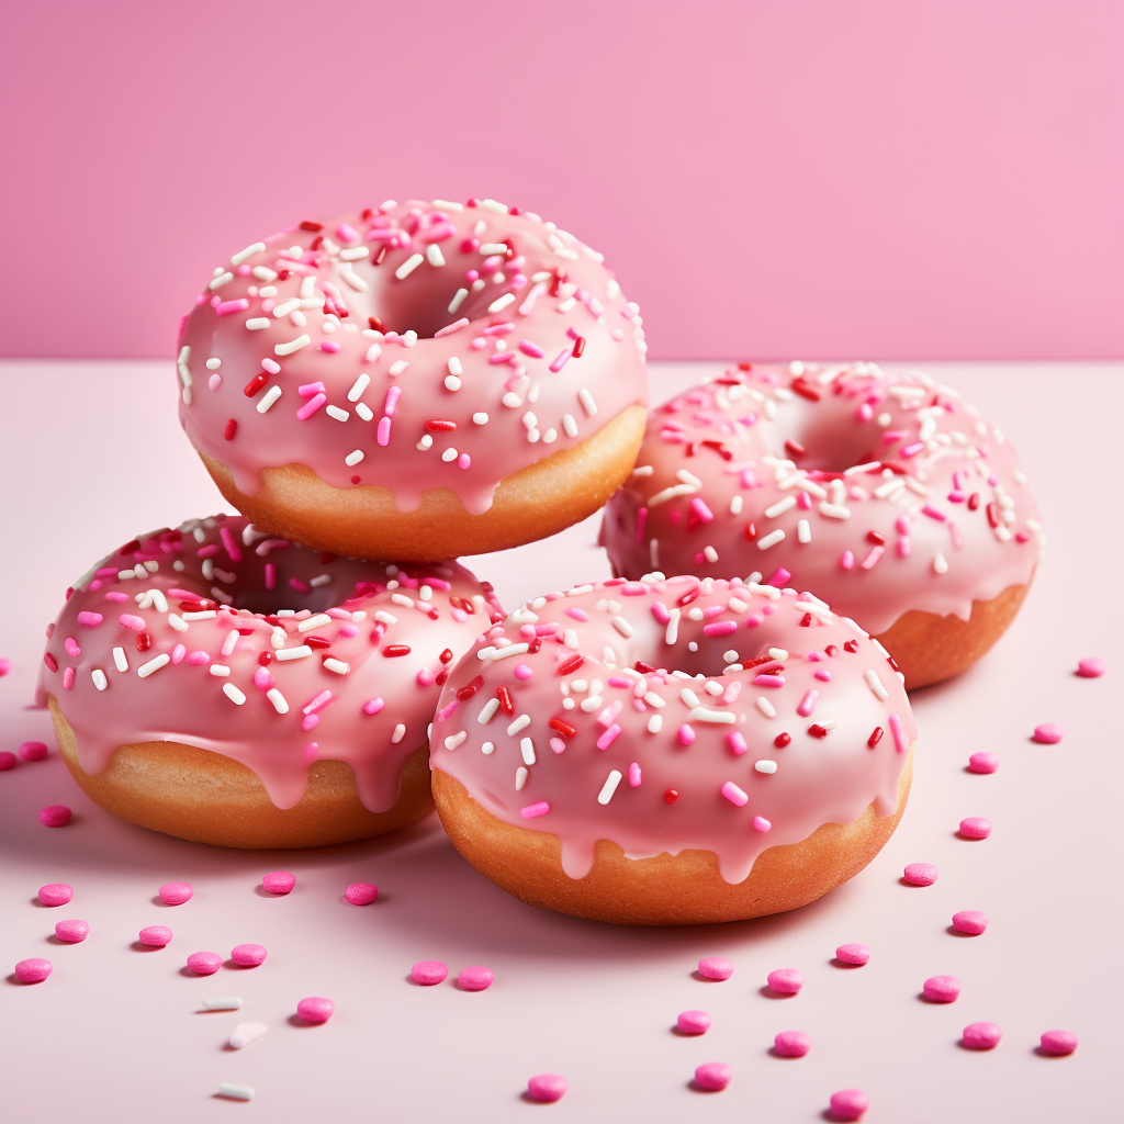
<svg viewBox="0 0 1124 1124">
<path fill-rule="evenodd" d="M 464 508 L 644 405 L 644 332 L 601 255 L 493 200 L 384 202 L 217 266 L 180 332 L 180 420 L 253 495 L 305 464 Z"/>
</svg>

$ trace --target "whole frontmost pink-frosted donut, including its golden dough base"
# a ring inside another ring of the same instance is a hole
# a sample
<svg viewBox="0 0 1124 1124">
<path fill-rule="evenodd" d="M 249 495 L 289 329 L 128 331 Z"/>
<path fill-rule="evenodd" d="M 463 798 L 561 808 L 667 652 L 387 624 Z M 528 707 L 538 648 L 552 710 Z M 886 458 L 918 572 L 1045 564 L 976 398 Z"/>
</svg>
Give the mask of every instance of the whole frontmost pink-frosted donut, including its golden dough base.
<svg viewBox="0 0 1124 1124">
<path fill-rule="evenodd" d="M 628 925 L 794 909 L 856 874 L 905 808 L 899 676 L 810 593 L 610 580 L 540 597 L 454 668 L 437 813 L 524 901 Z"/>
</svg>

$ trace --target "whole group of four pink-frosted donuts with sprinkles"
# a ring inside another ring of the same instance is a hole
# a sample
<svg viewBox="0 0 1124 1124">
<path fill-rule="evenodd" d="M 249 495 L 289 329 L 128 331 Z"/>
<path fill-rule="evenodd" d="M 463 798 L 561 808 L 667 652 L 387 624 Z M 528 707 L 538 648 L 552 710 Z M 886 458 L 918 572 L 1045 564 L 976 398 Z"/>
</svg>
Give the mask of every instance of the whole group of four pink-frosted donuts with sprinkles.
<svg viewBox="0 0 1124 1124">
<path fill-rule="evenodd" d="M 905 806 L 906 687 L 1009 623 L 1041 527 L 1003 435 L 871 364 L 740 364 L 647 414 L 638 309 L 489 199 L 303 221 L 217 266 L 180 420 L 239 516 L 67 590 L 38 696 L 133 823 L 308 846 L 436 805 L 524 900 L 790 909 Z M 606 509 L 616 577 L 508 616 L 451 561 Z"/>
</svg>

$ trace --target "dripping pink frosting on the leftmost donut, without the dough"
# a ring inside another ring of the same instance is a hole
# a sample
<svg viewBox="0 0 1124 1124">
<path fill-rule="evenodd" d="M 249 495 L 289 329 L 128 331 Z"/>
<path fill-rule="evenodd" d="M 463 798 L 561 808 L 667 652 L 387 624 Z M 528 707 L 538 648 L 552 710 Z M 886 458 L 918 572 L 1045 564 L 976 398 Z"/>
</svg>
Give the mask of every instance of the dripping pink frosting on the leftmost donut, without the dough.
<svg viewBox="0 0 1124 1124">
<path fill-rule="evenodd" d="M 453 562 L 359 562 L 242 517 L 192 519 L 127 543 L 67 591 L 38 703 L 55 697 L 88 773 L 119 745 L 182 742 L 241 761 L 291 808 L 309 767 L 332 759 L 386 812 L 448 668 L 498 609 Z"/>
</svg>

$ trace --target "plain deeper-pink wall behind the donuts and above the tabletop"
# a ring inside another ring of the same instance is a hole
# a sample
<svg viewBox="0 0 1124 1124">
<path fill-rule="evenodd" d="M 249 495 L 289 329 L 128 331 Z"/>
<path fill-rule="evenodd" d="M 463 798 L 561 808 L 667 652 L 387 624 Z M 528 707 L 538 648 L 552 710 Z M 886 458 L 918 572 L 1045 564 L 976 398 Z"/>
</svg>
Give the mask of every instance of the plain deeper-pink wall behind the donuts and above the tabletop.
<svg viewBox="0 0 1124 1124">
<path fill-rule="evenodd" d="M 490 194 L 655 357 L 1124 355 L 1124 4 L 3 6 L 9 355 L 171 354 L 293 220 Z"/>
</svg>

